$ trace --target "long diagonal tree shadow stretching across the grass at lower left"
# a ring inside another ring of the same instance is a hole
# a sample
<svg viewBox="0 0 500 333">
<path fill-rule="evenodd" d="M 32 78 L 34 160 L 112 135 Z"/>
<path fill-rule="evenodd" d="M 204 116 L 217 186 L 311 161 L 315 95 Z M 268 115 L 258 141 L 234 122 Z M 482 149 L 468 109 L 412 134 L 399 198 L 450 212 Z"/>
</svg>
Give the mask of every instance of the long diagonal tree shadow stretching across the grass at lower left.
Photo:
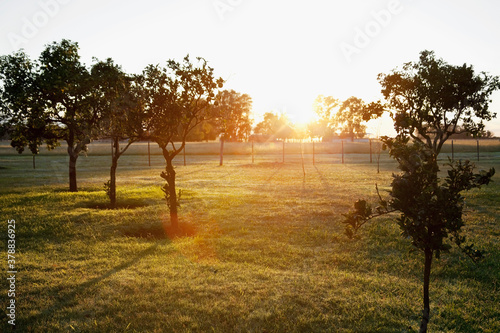
<svg viewBox="0 0 500 333">
<path fill-rule="evenodd" d="M 116 274 L 124 269 L 131 267 L 134 264 L 137 264 L 141 259 L 144 259 L 144 257 L 153 254 L 154 251 L 156 250 L 156 248 L 160 244 L 165 244 L 166 242 L 168 242 L 168 240 L 166 240 L 166 239 L 156 242 L 155 244 L 151 245 L 149 248 L 140 252 L 137 256 L 127 260 L 126 262 L 124 262 L 118 266 L 113 267 L 112 269 L 105 272 L 104 274 L 102 274 L 99 277 L 93 278 L 89 281 L 86 281 L 86 282 L 76 286 L 70 292 L 66 292 L 66 293 L 61 294 L 61 293 L 59 293 L 58 288 L 53 288 L 53 290 L 48 292 L 48 294 L 49 295 L 57 295 L 57 299 L 60 301 L 53 304 L 52 306 L 42 310 L 39 314 L 29 316 L 25 319 L 24 318 L 21 319 L 19 324 L 21 324 L 21 325 L 27 324 L 27 323 L 34 324 L 38 320 L 46 318 L 47 316 L 50 316 L 50 315 L 60 311 L 61 309 L 65 308 L 65 307 L 71 306 L 73 304 L 73 302 L 75 301 L 75 298 L 77 295 L 84 294 L 85 292 L 91 290 L 99 282 L 109 278 L 110 276 L 112 276 L 112 275 L 114 275 L 114 274 Z M 26 321 L 26 322 L 23 323 L 24 321 Z"/>
</svg>

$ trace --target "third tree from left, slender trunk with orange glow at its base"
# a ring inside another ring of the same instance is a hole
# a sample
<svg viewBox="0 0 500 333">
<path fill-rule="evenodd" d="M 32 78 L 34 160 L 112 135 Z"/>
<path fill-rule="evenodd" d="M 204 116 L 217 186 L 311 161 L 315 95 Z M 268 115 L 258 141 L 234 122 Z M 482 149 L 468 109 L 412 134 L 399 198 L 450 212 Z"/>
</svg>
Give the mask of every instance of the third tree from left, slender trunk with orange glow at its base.
<svg viewBox="0 0 500 333">
<path fill-rule="evenodd" d="M 215 116 L 215 93 L 223 85 L 206 60 L 196 59 L 197 64 L 186 56 L 182 62 L 169 60 L 166 68 L 150 65 L 138 79 L 147 113 L 146 129 L 161 148 L 166 162 L 161 177 L 166 181 L 163 191 L 174 230 L 179 227 L 179 203 L 173 160 L 184 149 L 187 135 Z"/>
</svg>

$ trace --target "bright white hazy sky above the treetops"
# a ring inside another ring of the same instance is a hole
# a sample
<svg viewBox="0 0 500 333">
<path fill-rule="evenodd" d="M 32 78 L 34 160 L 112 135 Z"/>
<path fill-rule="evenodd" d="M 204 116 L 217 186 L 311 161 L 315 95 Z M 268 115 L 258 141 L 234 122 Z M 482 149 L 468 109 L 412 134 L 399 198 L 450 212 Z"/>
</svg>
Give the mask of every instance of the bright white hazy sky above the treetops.
<svg viewBox="0 0 500 333">
<path fill-rule="evenodd" d="M 256 121 L 272 111 L 300 123 L 320 94 L 382 99 L 377 75 L 423 50 L 500 75 L 499 12 L 493 0 L 1 0 L 0 55 L 36 59 L 65 38 L 88 66 L 111 57 L 128 73 L 201 56 L 225 89 L 252 97 Z M 500 92 L 490 107 L 486 128 L 500 136 Z"/>
</svg>

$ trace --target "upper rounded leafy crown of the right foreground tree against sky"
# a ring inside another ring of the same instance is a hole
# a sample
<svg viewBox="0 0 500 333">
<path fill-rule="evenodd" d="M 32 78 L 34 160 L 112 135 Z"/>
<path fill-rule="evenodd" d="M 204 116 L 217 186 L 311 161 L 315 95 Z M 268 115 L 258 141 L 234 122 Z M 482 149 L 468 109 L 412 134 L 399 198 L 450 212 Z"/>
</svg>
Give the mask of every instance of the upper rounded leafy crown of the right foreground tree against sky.
<svg viewBox="0 0 500 333">
<path fill-rule="evenodd" d="M 435 154 L 454 134 L 481 134 L 483 121 L 496 116 L 489 103 L 499 78 L 476 74 L 471 65 L 450 65 L 432 51 L 378 80 L 398 134 L 425 143 Z"/>
</svg>

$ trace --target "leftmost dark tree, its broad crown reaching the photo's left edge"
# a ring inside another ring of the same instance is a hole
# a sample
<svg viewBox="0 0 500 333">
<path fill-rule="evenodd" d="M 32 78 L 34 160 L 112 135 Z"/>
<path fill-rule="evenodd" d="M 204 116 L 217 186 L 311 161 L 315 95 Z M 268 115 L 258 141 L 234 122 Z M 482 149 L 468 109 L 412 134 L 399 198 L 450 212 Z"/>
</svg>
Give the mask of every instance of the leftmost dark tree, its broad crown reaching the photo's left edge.
<svg viewBox="0 0 500 333">
<path fill-rule="evenodd" d="M 3 123 L 11 133 L 11 145 L 19 152 L 29 146 L 36 154 L 43 142 L 53 148 L 65 140 L 70 191 L 76 192 L 76 161 L 99 120 L 90 103 L 90 73 L 80 63 L 78 44 L 63 39 L 47 45 L 38 62 L 22 52 L 4 56 L 2 80 Z"/>
</svg>

